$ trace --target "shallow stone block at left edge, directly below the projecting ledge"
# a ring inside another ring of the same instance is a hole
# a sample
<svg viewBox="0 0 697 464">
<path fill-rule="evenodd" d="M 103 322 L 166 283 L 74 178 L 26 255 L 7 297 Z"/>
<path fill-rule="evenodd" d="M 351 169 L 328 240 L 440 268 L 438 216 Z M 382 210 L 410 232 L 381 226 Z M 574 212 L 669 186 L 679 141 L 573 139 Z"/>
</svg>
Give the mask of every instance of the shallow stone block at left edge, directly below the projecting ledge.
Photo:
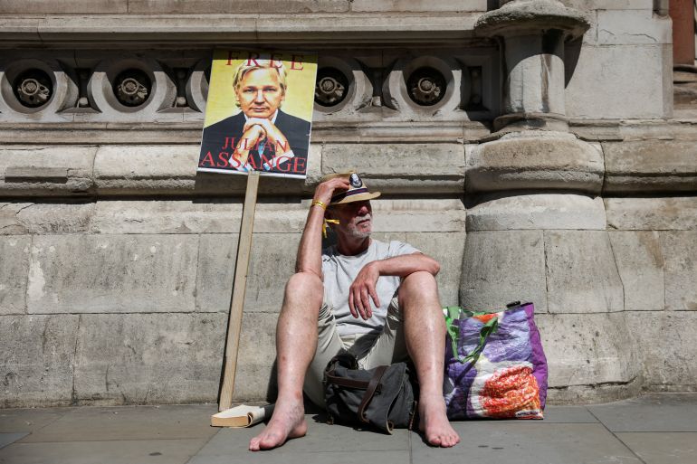
<svg viewBox="0 0 697 464">
<path fill-rule="evenodd" d="M 0 235 L 86 232 L 94 204 L 0 203 Z"/>
</svg>

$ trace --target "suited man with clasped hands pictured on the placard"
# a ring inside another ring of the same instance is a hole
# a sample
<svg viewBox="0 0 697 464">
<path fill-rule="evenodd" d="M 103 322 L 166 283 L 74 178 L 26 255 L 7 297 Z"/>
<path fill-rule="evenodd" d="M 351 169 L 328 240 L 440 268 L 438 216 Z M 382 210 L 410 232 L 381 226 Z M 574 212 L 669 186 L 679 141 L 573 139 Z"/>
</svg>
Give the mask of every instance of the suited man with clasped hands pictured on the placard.
<svg viewBox="0 0 697 464">
<path fill-rule="evenodd" d="M 234 71 L 240 112 L 204 128 L 201 159 L 220 167 L 295 174 L 306 169 L 310 122 L 282 110 L 288 91 L 281 61 L 245 60 Z M 201 163 L 199 163 L 201 166 Z"/>
</svg>

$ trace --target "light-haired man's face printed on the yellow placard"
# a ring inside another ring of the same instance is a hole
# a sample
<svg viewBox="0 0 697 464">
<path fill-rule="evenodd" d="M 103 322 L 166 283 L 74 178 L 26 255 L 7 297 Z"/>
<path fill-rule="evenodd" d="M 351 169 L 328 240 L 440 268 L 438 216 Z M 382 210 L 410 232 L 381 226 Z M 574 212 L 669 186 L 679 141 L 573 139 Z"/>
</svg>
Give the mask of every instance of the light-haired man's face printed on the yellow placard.
<svg viewBox="0 0 697 464">
<path fill-rule="evenodd" d="M 278 71 L 271 68 L 248 71 L 234 92 L 247 118 L 270 119 L 285 99 Z"/>
</svg>

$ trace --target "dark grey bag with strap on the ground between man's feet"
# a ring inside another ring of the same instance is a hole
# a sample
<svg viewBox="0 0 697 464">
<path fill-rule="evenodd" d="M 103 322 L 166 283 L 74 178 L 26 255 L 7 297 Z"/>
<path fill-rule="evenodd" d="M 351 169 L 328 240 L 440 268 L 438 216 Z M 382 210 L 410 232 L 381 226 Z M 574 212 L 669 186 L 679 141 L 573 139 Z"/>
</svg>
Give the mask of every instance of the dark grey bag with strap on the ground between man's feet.
<svg viewBox="0 0 697 464">
<path fill-rule="evenodd" d="M 324 372 L 329 421 L 369 424 L 390 434 L 411 429 L 417 402 L 412 373 L 406 363 L 366 370 L 353 355 L 334 356 Z"/>
</svg>

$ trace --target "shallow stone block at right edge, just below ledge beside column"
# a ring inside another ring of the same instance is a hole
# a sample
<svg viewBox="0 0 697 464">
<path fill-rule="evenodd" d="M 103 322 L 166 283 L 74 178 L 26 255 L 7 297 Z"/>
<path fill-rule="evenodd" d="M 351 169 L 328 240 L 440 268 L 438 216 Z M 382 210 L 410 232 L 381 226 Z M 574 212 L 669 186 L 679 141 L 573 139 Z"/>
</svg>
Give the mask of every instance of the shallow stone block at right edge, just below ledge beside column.
<svg viewBox="0 0 697 464">
<path fill-rule="evenodd" d="M 697 230 L 697 197 L 605 198 L 607 227 L 620 231 Z"/>
</svg>

